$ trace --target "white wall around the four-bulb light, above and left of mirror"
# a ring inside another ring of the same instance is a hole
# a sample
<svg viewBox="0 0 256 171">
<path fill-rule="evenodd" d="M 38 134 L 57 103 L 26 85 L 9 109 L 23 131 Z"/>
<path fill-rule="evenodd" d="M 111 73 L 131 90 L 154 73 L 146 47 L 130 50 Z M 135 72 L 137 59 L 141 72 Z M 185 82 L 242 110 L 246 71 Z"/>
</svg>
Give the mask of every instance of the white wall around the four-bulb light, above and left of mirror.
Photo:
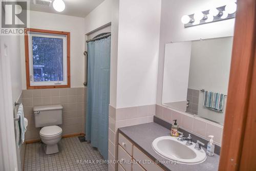
<svg viewBox="0 0 256 171">
<path fill-rule="evenodd" d="M 164 68 L 164 45 L 170 41 L 185 41 L 199 38 L 214 38 L 233 35 L 234 19 L 184 28 L 181 17 L 204 11 L 212 6 L 226 5 L 232 0 L 162 0 L 161 31 L 157 77 L 157 104 L 161 104 Z"/>
</svg>

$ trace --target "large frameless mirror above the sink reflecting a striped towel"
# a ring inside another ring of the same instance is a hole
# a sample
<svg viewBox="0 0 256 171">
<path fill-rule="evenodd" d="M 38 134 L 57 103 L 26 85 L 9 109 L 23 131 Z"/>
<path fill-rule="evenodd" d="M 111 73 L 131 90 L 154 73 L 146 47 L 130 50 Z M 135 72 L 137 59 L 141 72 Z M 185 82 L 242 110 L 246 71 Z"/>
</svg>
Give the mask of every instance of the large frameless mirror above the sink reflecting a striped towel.
<svg viewBox="0 0 256 171">
<path fill-rule="evenodd" d="M 165 45 L 162 103 L 224 122 L 233 37 Z"/>
</svg>

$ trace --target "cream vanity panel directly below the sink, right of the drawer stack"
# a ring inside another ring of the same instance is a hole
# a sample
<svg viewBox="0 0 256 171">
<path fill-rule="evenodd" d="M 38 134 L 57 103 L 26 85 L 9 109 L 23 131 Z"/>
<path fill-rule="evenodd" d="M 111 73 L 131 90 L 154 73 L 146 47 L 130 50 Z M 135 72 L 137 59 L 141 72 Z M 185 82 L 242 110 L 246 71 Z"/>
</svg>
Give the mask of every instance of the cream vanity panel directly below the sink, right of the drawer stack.
<svg viewBox="0 0 256 171">
<path fill-rule="evenodd" d="M 154 163 L 149 157 L 147 157 L 143 152 L 141 152 L 136 146 L 133 147 L 133 158 L 135 160 L 141 161 L 141 166 L 144 167 L 147 171 L 163 171 L 163 169 Z M 150 160 L 150 164 L 143 161 Z"/>
</svg>

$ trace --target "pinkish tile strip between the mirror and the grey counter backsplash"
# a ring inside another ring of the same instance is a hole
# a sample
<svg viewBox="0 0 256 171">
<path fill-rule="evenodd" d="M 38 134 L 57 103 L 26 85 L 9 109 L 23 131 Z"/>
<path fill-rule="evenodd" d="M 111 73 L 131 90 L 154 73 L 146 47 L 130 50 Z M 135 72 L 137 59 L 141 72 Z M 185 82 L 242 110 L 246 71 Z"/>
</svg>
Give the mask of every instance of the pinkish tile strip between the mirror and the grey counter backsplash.
<svg viewBox="0 0 256 171">
<path fill-rule="evenodd" d="M 172 123 L 177 119 L 177 123 L 186 131 L 193 132 L 202 138 L 209 140 L 209 135 L 214 135 L 214 141 L 221 146 L 223 126 L 214 122 L 194 117 L 193 115 L 168 109 L 166 106 L 156 105 L 156 116 Z"/>
</svg>

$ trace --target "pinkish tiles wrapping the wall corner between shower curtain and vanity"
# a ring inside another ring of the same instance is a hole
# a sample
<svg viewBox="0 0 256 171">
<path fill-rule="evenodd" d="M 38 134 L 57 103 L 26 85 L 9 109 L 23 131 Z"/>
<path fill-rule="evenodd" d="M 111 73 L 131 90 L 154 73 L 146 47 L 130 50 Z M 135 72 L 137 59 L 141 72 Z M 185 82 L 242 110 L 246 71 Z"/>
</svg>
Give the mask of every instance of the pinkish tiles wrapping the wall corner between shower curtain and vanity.
<svg viewBox="0 0 256 171">
<path fill-rule="evenodd" d="M 109 160 L 117 159 L 118 127 L 153 122 L 155 111 L 155 104 L 120 109 L 109 106 Z M 117 165 L 109 164 L 109 170 L 117 170 Z"/>
</svg>

